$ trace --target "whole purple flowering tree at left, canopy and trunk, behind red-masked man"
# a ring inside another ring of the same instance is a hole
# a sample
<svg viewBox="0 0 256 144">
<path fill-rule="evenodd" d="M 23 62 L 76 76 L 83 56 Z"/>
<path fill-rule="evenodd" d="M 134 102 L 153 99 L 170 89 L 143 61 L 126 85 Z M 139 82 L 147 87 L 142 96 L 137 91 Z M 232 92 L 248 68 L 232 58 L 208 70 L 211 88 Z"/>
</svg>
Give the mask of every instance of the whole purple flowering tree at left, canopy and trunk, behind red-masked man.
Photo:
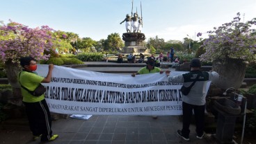
<svg viewBox="0 0 256 144">
<path fill-rule="evenodd" d="M 44 55 L 44 51 L 52 47 L 51 30 L 48 26 L 29 28 L 13 21 L 0 26 L 0 62 L 5 66 L 14 98 L 21 98 L 17 82 L 19 58 L 32 56 L 36 60 L 47 60 L 49 55 Z"/>
</svg>

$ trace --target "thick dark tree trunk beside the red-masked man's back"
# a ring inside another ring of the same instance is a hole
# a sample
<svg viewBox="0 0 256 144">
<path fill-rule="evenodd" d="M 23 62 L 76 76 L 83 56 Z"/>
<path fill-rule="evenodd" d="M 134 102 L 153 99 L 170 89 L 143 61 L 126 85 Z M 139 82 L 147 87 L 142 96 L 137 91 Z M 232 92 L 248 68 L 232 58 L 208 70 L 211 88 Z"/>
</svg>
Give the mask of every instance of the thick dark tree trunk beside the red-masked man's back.
<svg viewBox="0 0 256 144">
<path fill-rule="evenodd" d="M 9 99 L 9 103 L 17 106 L 22 105 L 22 93 L 20 91 L 19 81 L 17 80 L 17 73 L 19 72 L 19 64 L 13 63 L 11 60 L 5 62 L 6 75 L 8 82 L 13 88 L 13 96 Z"/>
</svg>

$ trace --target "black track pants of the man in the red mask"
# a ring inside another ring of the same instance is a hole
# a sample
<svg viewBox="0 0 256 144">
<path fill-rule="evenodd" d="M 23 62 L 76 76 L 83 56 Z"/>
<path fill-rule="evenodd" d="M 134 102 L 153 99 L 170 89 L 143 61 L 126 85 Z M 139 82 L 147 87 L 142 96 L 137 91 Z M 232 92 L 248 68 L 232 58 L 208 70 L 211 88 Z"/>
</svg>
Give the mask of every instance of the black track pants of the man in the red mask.
<svg viewBox="0 0 256 144">
<path fill-rule="evenodd" d="M 51 136 L 51 115 L 45 100 L 40 102 L 24 102 L 26 115 L 33 136 L 42 134 L 41 141 L 48 141 Z"/>
</svg>

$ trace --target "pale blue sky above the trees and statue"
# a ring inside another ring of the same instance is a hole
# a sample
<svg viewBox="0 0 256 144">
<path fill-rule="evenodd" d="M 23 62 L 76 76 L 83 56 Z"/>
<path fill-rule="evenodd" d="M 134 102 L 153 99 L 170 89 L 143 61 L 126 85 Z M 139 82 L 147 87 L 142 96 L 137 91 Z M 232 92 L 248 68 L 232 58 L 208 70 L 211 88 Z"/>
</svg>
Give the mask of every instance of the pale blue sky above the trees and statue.
<svg viewBox="0 0 256 144">
<path fill-rule="evenodd" d="M 126 33 L 127 14 L 132 0 L 0 0 L 0 21 L 9 19 L 36 28 L 77 33 L 93 40 L 106 39 L 111 33 Z M 142 3 L 142 5 L 141 5 Z M 133 13 L 142 18 L 141 33 L 150 37 L 183 41 L 184 37 L 199 40 L 197 33 L 232 21 L 241 13 L 241 21 L 256 17 L 255 0 L 134 0 Z M 189 35 L 189 36 L 187 36 Z M 146 40 L 147 40 L 146 39 Z"/>
</svg>

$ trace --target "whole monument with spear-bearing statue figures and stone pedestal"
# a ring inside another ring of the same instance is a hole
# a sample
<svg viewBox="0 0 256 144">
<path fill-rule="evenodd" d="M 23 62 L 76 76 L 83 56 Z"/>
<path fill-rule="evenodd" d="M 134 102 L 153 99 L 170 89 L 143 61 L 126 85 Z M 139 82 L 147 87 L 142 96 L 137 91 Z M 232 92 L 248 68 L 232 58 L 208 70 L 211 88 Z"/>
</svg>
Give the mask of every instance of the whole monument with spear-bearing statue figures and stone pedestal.
<svg viewBox="0 0 256 144">
<path fill-rule="evenodd" d="M 137 12 L 134 12 L 134 15 L 132 15 L 133 14 L 132 9 L 133 9 L 133 6 L 131 8 L 131 17 L 129 17 L 129 15 L 127 14 L 124 20 L 126 21 L 125 28 L 127 30 L 127 33 L 122 34 L 122 40 L 125 41 L 125 47 L 121 48 L 121 52 L 133 53 L 133 54 L 150 53 L 150 49 L 146 48 L 144 44 L 145 34 L 141 33 L 141 28 L 143 27 L 142 7 L 141 7 L 141 17 L 138 17 Z M 122 24 L 122 22 L 120 24 Z M 129 29 L 129 26 L 130 26 L 130 29 Z"/>
</svg>

